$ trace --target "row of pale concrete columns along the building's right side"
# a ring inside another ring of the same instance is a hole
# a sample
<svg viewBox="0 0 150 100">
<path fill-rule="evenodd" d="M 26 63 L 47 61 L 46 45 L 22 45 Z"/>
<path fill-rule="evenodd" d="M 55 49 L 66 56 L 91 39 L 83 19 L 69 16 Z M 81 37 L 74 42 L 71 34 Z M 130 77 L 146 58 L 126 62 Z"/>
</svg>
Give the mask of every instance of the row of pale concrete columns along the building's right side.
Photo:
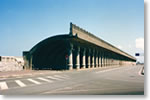
<svg viewBox="0 0 150 100">
<path fill-rule="evenodd" d="M 82 57 L 80 57 L 81 48 L 77 47 L 76 49 L 74 49 L 73 45 L 71 45 L 69 49 L 68 59 L 67 59 L 67 66 L 69 70 L 72 70 L 73 68 L 84 69 L 84 68 L 119 65 L 119 60 L 111 58 L 109 54 L 105 54 L 105 53 L 106 52 L 104 51 L 99 52 L 92 49 L 82 48 Z M 73 57 L 74 55 L 75 57 Z M 75 58 L 75 60 L 73 58 Z M 80 64 L 81 60 L 82 63 Z M 73 64 L 74 61 L 76 61 L 75 64 Z"/>
</svg>

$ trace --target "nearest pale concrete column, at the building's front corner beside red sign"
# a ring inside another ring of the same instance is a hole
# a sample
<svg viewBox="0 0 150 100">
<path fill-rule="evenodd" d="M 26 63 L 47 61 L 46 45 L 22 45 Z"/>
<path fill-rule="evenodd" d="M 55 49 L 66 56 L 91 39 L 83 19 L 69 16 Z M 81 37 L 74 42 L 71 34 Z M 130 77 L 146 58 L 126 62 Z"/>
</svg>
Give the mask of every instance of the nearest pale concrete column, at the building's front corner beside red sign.
<svg viewBox="0 0 150 100">
<path fill-rule="evenodd" d="M 71 45 L 71 48 L 69 49 L 69 54 L 68 54 L 68 69 L 72 70 L 73 69 L 73 45 Z"/>
</svg>

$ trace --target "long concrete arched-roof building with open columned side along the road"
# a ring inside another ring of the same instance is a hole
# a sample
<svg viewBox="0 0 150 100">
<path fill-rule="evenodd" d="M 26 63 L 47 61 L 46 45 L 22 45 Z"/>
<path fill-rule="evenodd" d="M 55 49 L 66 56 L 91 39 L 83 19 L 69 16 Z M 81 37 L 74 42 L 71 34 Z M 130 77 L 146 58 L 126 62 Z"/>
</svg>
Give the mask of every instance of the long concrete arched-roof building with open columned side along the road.
<svg viewBox="0 0 150 100">
<path fill-rule="evenodd" d="M 23 52 L 25 69 L 72 70 L 135 64 L 136 58 L 70 23 L 70 32 Z"/>
</svg>

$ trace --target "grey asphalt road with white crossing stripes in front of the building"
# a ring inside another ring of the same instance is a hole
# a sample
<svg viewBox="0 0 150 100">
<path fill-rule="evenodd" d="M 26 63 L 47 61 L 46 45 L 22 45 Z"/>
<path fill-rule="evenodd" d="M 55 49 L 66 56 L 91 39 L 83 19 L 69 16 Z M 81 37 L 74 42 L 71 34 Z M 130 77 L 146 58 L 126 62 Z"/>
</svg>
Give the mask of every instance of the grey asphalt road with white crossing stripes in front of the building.
<svg viewBox="0 0 150 100">
<path fill-rule="evenodd" d="M 62 71 L 0 79 L 0 94 L 144 95 L 143 66 Z"/>
</svg>

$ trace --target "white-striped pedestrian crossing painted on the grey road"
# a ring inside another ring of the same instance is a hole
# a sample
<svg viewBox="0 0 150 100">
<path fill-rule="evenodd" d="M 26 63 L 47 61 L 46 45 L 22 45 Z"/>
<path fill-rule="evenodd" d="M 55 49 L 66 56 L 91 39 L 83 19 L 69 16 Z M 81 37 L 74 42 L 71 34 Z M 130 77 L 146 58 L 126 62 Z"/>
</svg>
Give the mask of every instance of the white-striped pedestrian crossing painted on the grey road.
<svg viewBox="0 0 150 100">
<path fill-rule="evenodd" d="M 1 90 L 6 90 L 6 89 L 11 89 L 11 88 L 15 88 L 15 87 L 27 87 L 28 86 L 28 82 L 30 81 L 32 82 L 32 84 L 42 84 L 44 82 L 49 82 L 49 83 L 53 83 L 55 81 L 62 81 L 65 79 L 69 79 L 70 77 L 67 75 L 52 75 L 52 76 L 44 76 L 44 77 L 36 77 L 36 78 L 26 78 L 25 80 L 19 80 L 19 79 L 14 79 L 13 81 L 1 81 L 0 82 L 0 91 Z M 24 83 L 25 82 L 25 83 Z M 14 83 L 16 83 L 16 85 L 13 85 Z M 31 83 L 30 83 L 31 84 Z M 29 84 L 29 85 L 30 85 Z"/>
</svg>

